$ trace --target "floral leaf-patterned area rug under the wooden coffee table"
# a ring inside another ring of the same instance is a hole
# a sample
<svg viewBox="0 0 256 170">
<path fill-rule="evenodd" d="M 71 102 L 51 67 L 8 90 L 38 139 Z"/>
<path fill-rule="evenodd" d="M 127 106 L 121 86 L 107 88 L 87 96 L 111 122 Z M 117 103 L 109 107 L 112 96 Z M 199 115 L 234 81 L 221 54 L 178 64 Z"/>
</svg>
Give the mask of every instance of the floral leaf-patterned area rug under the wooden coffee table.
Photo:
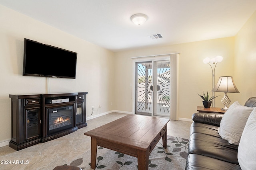
<svg viewBox="0 0 256 170">
<path fill-rule="evenodd" d="M 162 145 L 162 139 L 149 156 L 149 170 L 184 170 L 188 152 L 188 139 L 167 137 L 167 149 Z M 66 165 L 78 166 L 83 170 L 90 170 L 90 150 Z M 98 147 L 96 169 L 102 170 L 137 170 L 137 158 Z"/>
</svg>

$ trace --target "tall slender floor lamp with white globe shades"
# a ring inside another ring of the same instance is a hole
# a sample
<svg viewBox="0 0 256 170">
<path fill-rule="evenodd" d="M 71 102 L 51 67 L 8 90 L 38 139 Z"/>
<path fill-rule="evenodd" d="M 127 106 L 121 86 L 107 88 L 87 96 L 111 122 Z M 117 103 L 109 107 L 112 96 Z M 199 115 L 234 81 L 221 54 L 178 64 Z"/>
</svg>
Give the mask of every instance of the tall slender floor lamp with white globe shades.
<svg viewBox="0 0 256 170">
<path fill-rule="evenodd" d="M 216 68 L 216 65 L 217 65 L 217 63 L 220 63 L 221 61 L 223 60 L 223 57 L 221 57 L 221 56 L 216 56 L 215 58 L 212 58 L 212 59 L 210 59 L 209 57 L 207 57 L 207 58 L 205 58 L 204 60 L 203 60 L 203 62 L 204 62 L 204 64 L 209 64 L 210 66 L 211 66 L 211 68 L 212 68 L 212 89 L 214 88 L 214 86 L 215 86 L 215 68 Z M 211 65 L 211 64 L 212 65 Z M 212 92 L 212 97 L 214 98 L 214 92 Z M 215 107 L 215 99 L 213 99 L 212 100 L 212 106 L 213 107 Z"/>
</svg>

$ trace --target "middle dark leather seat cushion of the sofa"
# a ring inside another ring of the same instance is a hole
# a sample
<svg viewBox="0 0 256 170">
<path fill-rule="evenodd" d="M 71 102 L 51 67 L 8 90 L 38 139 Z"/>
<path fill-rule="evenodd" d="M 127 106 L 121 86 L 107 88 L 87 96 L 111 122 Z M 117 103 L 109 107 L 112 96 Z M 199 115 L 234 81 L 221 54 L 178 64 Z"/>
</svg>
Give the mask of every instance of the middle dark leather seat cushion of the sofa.
<svg viewBox="0 0 256 170">
<path fill-rule="evenodd" d="M 237 149 L 237 145 L 231 145 L 220 137 L 192 133 L 189 140 L 188 154 L 200 154 L 232 164 L 238 164 Z"/>
</svg>

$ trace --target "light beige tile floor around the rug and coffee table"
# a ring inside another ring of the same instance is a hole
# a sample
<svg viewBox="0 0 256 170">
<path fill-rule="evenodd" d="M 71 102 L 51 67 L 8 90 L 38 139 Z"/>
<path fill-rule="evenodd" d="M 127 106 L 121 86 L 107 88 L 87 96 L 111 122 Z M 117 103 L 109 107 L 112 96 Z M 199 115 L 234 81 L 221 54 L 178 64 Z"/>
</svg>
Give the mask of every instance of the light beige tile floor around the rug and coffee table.
<svg viewBox="0 0 256 170">
<path fill-rule="evenodd" d="M 0 148 L 0 170 L 52 170 L 54 167 L 64 165 L 77 156 L 90 150 L 90 137 L 85 136 L 86 131 L 102 126 L 119 119 L 126 114 L 110 113 L 86 121 L 87 127 L 78 129 L 64 137 L 40 143 L 26 149 L 16 151 L 8 146 Z M 175 137 L 189 139 L 189 121 L 169 121 L 167 134 Z M 19 164 L 14 164 L 18 161 Z M 7 164 L 7 162 L 11 164 Z"/>
</svg>

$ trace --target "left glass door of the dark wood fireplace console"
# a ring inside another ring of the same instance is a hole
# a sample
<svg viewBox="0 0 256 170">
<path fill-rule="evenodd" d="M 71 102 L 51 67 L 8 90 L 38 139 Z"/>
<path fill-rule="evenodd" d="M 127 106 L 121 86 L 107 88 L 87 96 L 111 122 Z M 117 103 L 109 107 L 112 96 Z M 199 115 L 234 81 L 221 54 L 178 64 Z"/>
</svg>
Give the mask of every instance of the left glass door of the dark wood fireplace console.
<svg viewBox="0 0 256 170">
<path fill-rule="evenodd" d="M 26 140 L 40 137 L 40 107 L 33 109 L 26 109 Z"/>
</svg>

